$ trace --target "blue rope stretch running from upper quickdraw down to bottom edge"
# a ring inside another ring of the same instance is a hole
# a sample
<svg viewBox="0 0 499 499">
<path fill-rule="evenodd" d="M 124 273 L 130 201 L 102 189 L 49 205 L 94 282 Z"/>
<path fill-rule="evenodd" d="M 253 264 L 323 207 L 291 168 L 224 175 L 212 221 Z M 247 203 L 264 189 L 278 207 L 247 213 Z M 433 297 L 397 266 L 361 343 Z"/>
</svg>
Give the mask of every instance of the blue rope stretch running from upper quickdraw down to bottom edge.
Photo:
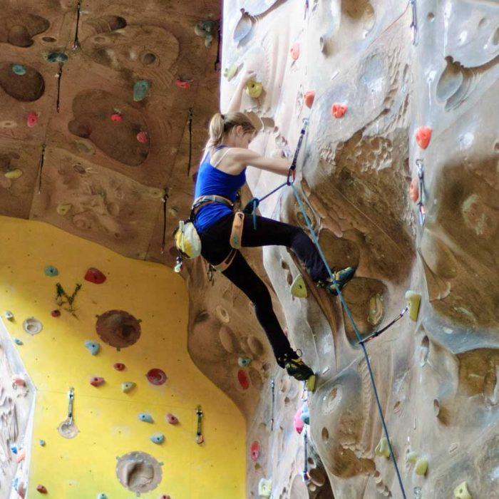
<svg viewBox="0 0 499 499">
<path fill-rule="evenodd" d="M 355 324 L 354 317 L 352 317 L 352 315 L 351 315 L 350 309 L 345 302 L 343 294 L 341 294 L 341 290 L 338 287 L 338 283 L 336 282 L 336 279 L 334 279 L 334 274 L 331 270 L 331 267 L 329 267 L 329 263 L 327 262 L 326 257 L 324 256 L 324 252 L 322 251 L 321 245 L 319 244 L 319 239 L 314 231 L 314 227 L 312 227 L 312 223 L 309 220 L 309 217 L 307 215 L 307 211 L 305 210 L 302 198 L 300 197 L 300 195 L 297 191 L 297 187 L 294 186 L 294 183 L 291 184 L 291 187 L 293 189 L 294 197 L 296 198 L 296 200 L 299 204 L 300 210 L 302 211 L 302 215 L 304 217 L 304 220 L 307 223 L 307 227 L 309 229 L 310 235 L 312 236 L 312 240 L 314 241 L 314 245 L 316 245 L 317 251 L 319 252 L 321 259 L 324 262 L 324 265 L 326 266 L 327 272 L 329 274 L 329 278 L 331 279 L 331 282 L 334 284 L 334 287 L 336 289 L 336 293 L 338 294 L 338 297 L 341 301 L 341 305 L 343 306 L 344 311 L 346 312 L 346 315 L 349 318 L 351 325 L 354 328 L 355 334 L 357 336 L 357 341 L 359 341 L 359 345 L 361 346 L 362 351 L 364 352 L 364 357 L 366 359 L 367 369 L 369 371 L 369 376 L 371 377 L 371 384 L 373 386 L 374 397 L 376 398 L 376 404 L 378 406 L 379 416 L 381 418 L 381 423 L 383 425 L 386 440 L 388 441 L 390 456 L 391 456 L 391 459 L 393 461 L 393 467 L 395 468 L 395 472 L 396 472 L 396 475 L 398 478 L 398 483 L 399 483 L 401 491 L 402 491 L 403 499 L 406 499 L 406 491 L 403 488 L 402 478 L 401 478 L 400 472 L 398 471 L 398 465 L 397 465 L 397 462 L 395 459 L 395 454 L 393 453 L 393 448 L 391 447 L 390 436 L 389 436 L 388 428 L 386 427 L 385 418 L 383 416 L 383 409 L 381 408 L 381 402 L 379 401 L 378 389 L 376 389 L 376 381 L 374 381 L 374 374 L 373 374 L 373 370 L 371 367 L 371 361 L 369 361 L 369 356 L 367 355 L 366 346 L 365 346 L 364 342 L 362 341 L 362 336 L 360 334 L 359 328 Z"/>
</svg>

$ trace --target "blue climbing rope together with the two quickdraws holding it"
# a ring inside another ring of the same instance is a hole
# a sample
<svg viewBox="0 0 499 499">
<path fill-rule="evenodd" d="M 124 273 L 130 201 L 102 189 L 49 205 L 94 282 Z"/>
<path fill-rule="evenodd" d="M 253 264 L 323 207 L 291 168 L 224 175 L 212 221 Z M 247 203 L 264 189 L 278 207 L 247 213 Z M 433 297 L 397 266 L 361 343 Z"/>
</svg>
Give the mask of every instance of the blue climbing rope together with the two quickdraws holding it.
<svg viewBox="0 0 499 499">
<path fill-rule="evenodd" d="M 389 431 L 388 431 L 388 428 L 386 426 L 386 421 L 385 421 L 385 418 L 383 415 L 383 409 L 381 408 L 381 402 L 379 401 L 378 389 L 376 388 L 376 381 L 374 381 L 374 374 L 373 374 L 373 370 L 371 368 L 371 361 L 369 361 L 369 356 L 368 356 L 367 350 L 366 350 L 365 342 L 367 339 L 362 338 L 360 331 L 359 331 L 359 328 L 355 324 L 354 317 L 352 317 L 350 309 L 345 302 L 343 294 L 341 294 L 341 290 L 338 287 L 338 283 L 336 282 L 336 279 L 334 279 L 334 274 L 331 270 L 331 267 L 329 267 L 329 264 L 326 260 L 326 257 L 324 256 L 324 252 L 322 251 L 321 245 L 319 244 L 319 238 L 317 237 L 317 235 L 314 231 L 314 227 L 312 227 L 312 223 L 309 220 L 309 217 L 307 215 L 307 211 L 305 210 L 305 206 L 304 206 L 304 203 L 302 201 L 302 198 L 299 195 L 297 187 L 294 186 L 294 170 L 297 168 L 297 158 L 299 155 L 299 150 L 302 147 L 302 141 L 303 141 L 304 135 L 305 135 L 306 130 L 307 130 L 307 125 L 308 125 L 308 120 L 305 119 L 304 125 L 302 127 L 301 132 L 300 132 L 297 150 L 294 152 L 294 158 L 293 158 L 291 166 L 289 167 L 286 182 L 284 182 L 282 185 L 279 185 L 278 187 L 276 187 L 274 190 L 269 192 L 267 195 L 264 195 L 264 197 L 261 197 L 260 199 L 257 199 L 256 197 L 254 197 L 252 200 L 250 200 L 245 207 L 245 213 L 253 214 L 253 227 L 256 229 L 257 218 L 256 218 L 256 214 L 254 211 L 255 211 L 256 207 L 259 205 L 259 202 L 264 200 L 265 198 L 269 197 L 270 195 L 274 194 L 274 192 L 279 190 L 281 187 L 284 187 L 284 185 L 290 185 L 292 187 L 294 197 L 296 198 L 298 205 L 299 205 L 299 208 L 300 208 L 300 211 L 302 212 L 304 220 L 307 223 L 307 228 L 309 229 L 310 235 L 312 236 L 312 240 L 314 241 L 314 245 L 317 247 L 317 250 L 319 251 L 321 259 L 324 262 L 324 265 L 326 266 L 327 272 L 329 274 L 329 278 L 331 279 L 331 282 L 334 284 L 334 287 L 336 289 L 336 293 L 338 294 L 338 297 L 340 299 L 341 306 L 344 308 L 344 311 L 346 312 L 346 315 L 349 318 L 349 321 L 351 322 L 351 325 L 354 328 L 357 341 L 359 342 L 359 345 L 361 346 L 361 349 L 364 353 L 364 358 L 366 359 L 367 369 L 369 371 L 369 377 L 371 379 L 371 385 L 373 387 L 374 397 L 376 398 L 376 405 L 378 406 L 379 416 L 381 418 L 381 424 L 383 425 L 383 430 L 384 430 L 384 433 L 386 436 L 386 440 L 388 441 L 390 456 L 391 456 L 391 460 L 393 461 L 393 468 L 395 468 L 395 473 L 397 475 L 398 484 L 400 485 L 400 488 L 401 488 L 402 497 L 403 497 L 403 499 L 406 499 L 406 497 L 407 497 L 406 491 L 403 488 L 402 478 L 401 478 L 400 472 L 398 470 L 398 465 L 397 465 L 397 462 L 395 459 L 395 455 L 393 454 L 393 448 L 391 447 Z M 399 316 L 394 321 L 392 321 L 391 324 L 389 324 L 389 326 L 391 326 L 394 322 L 396 322 L 398 319 L 400 319 L 403 316 L 403 314 L 405 314 L 405 313 L 406 313 L 406 309 L 403 309 L 401 314 L 399 314 Z M 378 334 L 381 334 L 381 332 L 388 329 L 388 327 L 385 327 L 383 330 L 378 331 Z M 378 334 L 376 334 L 376 336 Z M 374 336 L 372 336 L 372 337 L 374 337 Z M 371 339 L 370 336 L 369 336 L 369 339 Z"/>
</svg>

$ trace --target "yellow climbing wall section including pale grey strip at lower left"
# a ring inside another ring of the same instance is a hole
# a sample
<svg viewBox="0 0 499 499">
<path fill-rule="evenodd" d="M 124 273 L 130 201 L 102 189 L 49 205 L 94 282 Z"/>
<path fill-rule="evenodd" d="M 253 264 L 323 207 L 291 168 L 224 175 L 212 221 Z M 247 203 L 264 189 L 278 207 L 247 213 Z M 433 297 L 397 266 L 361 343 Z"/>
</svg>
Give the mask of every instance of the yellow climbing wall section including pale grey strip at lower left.
<svg viewBox="0 0 499 499">
<path fill-rule="evenodd" d="M 245 498 L 245 421 L 190 360 L 182 279 L 0 226 L 0 498 Z"/>
</svg>

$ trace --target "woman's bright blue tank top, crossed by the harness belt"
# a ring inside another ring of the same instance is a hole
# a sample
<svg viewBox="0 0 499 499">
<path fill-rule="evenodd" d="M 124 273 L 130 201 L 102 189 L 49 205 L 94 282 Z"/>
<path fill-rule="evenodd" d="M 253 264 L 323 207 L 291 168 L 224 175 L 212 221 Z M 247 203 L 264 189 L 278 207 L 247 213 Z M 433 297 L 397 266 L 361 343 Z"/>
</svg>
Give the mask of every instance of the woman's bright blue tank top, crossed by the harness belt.
<svg viewBox="0 0 499 499">
<path fill-rule="evenodd" d="M 226 147 L 227 145 L 219 145 L 215 150 Z M 207 153 L 199 170 L 197 170 L 194 198 L 216 194 L 235 202 L 237 190 L 245 183 L 246 168 L 238 175 L 222 172 L 210 163 L 210 153 Z M 205 205 L 197 211 L 194 226 L 197 232 L 202 232 L 229 213 L 232 213 L 232 210 L 227 205 L 221 202 L 210 202 L 209 205 Z"/>
</svg>

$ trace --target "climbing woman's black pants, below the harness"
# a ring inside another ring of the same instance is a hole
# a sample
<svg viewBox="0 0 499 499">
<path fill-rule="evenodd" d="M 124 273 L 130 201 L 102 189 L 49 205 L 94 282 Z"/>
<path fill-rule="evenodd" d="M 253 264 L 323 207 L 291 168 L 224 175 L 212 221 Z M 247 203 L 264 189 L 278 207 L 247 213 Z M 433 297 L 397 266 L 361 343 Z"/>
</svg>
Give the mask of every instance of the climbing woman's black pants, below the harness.
<svg viewBox="0 0 499 499">
<path fill-rule="evenodd" d="M 212 265 L 220 264 L 232 250 L 229 240 L 233 220 L 232 213 L 200 233 L 201 254 Z M 329 277 L 314 242 L 301 227 L 257 217 L 257 229 L 254 230 L 252 215 L 245 215 L 241 245 L 242 247 L 287 246 L 303 262 L 314 281 Z M 272 308 L 269 290 L 249 267 L 245 257 L 237 251 L 230 267 L 222 273 L 252 301 L 254 312 L 267 334 L 276 358 L 291 353 L 292 348 Z"/>
</svg>

